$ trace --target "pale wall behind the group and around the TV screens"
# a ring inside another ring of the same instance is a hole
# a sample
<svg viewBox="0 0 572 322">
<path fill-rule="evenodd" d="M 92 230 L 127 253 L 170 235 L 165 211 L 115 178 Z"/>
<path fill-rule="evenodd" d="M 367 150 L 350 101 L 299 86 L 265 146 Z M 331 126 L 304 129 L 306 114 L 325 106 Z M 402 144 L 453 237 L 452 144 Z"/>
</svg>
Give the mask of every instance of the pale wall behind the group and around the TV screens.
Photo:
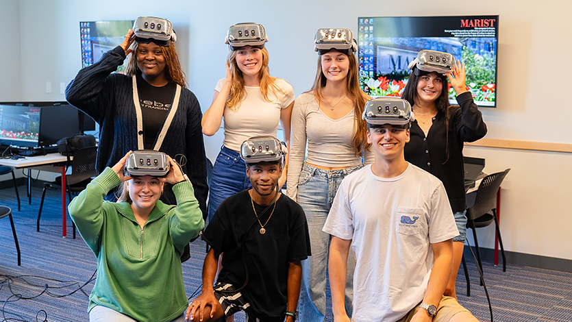
<svg viewBox="0 0 572 322">
<path fill-rule="evenodd" d="M 569 73 L 563 69 L 566 53 L 572 52 L 567 33 L 571 1 L 481 0 L 423 10 L 425 4 L 421 0 L 0 0 L 0 17 L 14 21 L 12 29 L 20 29 L 18 37 L 2 36 L 2 74 L 9 77 L 0 77 L 0 101 L 64 99 L 60 82 L 67 84 L 81 67 L 79 21 L 169 18 L 179 35 L 177 47 L 190 89 L 206 110 L 216 81 L 225 75 L 223 39 L 234 23 L 253 21 L 266 27 L 271 74 L 287 79 L 299 95 L 314 79 L 312 41 L 319 27 L 349 27 L 357 34 L 358 16 L 499 14 L 498 108 L 482 109 L 486 138 L 572 143 L 571 104 L 560 99 L 570 92 Z M 18 80 L 19 88 L 14 86 Z M 46 93 L 46 82 L 52 83 L 51 94 Z M 222 136 L 216 134 L 205 142 L 213 159 Z M 488 173 L 512 168 L 503 184 L 501 214 L 507 250 L 572 259 L 572 247 L 567 246 L 572 234 L 564 231 L 572 214 L 565 198 L 572 182 L 570 153 L 469 147 L 465 154 L 486 158 Z M 482 245 L 492 247 L 492 230 L 480 235 Z"/>
</svg>

